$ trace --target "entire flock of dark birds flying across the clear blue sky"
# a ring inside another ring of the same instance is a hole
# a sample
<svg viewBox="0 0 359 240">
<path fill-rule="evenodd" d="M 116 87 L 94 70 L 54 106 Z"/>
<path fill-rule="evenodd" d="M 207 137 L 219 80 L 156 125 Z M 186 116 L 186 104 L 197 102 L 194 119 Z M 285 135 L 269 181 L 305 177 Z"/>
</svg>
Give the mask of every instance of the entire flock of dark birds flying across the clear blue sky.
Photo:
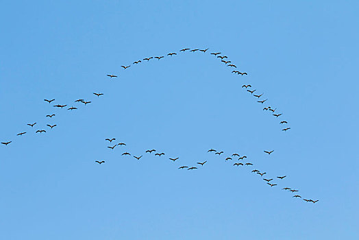
<svg viewBox="0 0 359 240">
<path fill-rule="evenodd" d="M 193 52 L 195 53 L 196 51 L 199 51 L 199 52 L 203 52 L 203 53 L 206 53 L 208 51 L 208 49 L 189 49 L 189 48 L 184 48 L 184 49 L 181 49 L 180 52 L 185 52 L 185 51 L 190 51 L 190 52 Z M 168 53 L 167 56 L 169 57 L 173 57 L 177 55 L 177 53 L 175 52 L 171 52 L 171 53 Z M 232 61 L 228 60 L 228 57 L 225 56 L 225 55 L 221 55 L 221 52 L 213 52 L 213 53 L 210 53 L 210 55 L 212 56 L 215 56 L 216 58 L 219 58 L 221 60 L 221 62 L 223 62 L 223 64 L 225 64 L 227 67 L 230 67 L 230 68 L 234 68 L 234 69 L 237 69 L 236 65 L 232 63 Z M 149 58 L 143 58 L 143 60 L 137 60 L 135 62 L 133 62 L 133 64 L 140 64 L 141 62 L 143 61 L 147 61 L 149 62 L 149 60 L 151 59 L 157 59 L 157 60 L 161 60 L 162 58 L 164 58 L 164 56 L 154 56 L 154 57 L 149 57 Z M 123 65 L 121 66 L 123 68 L 123 70 L 125 69 L 128 69 L 129 67 L 131 67 L 131 64 L 129 65 Z M 232 73 L 234 74 L 237 74 L 237 75 L 247 75 L 246 72 L 242 72 L 242 71 L 237 71 L 237 70 L 233 70 Z M 107 74 L 108 77 L 110 77 L 111 79 L 113 77 L 118 77 L 117 75 L 114 75 L 114 74 Z M 251 88 L 251 84 L 244 84 L 242 86 L 242 88 L 245 88 L 245 90 L 247 90 L 248 93 L 250 93 L 251 95 L 253 95 L 253 97 L 256 97 L 258 99 L 258 103 L 260 104 L 264 104 L 264 102 L 267 102 L 268 99 L 262 99 L 262 95 L 264 95 L 264 93 L 261 93 L 261 94 L 256 94 L 256 89 L 253 89 Z M 103 93 L 93 93 L 93 95 L 95 95 L 97 98 L 102 96 Z M 55 99 L 44 99 L 44 101 L 46 101 L 47 103 L 51 104 L 53 101 L 55 101 Z M 92 100 L 93 101 L 93 100 Z M 86 106 L 87 104 L 91 104 L 92 101 L 88 101 L 88 100 L 85 100 L 85 99 L 76 99 L 74 101 L 75 104 L 84 104 L 84 106 Z M 55 104 L 53 105 L 54 108 L 67 108 L 67 110 L 77 110 L 77 107 L 75 106 L 71 106 L 69 107 L 67 104 Z M 282 113 L 277 113 L 276 110 L 277 108 L 273 108 L 271 106 L 266 106 L 263 108 L 263 110 L 265 111 L 271 111 L 272 112 L 272 115 L 276 118 L 278 117 L 281 117 L 282 116 Z M 53 117 L 55 117 L 56 114 L 55 113 L 51 113 L 49 115 L 46 115 L 47 118 L 49 118 L 49 120 L 53 119 Z M 29 126 L 29 128 L 33 129 L 34 126 L 36 125 L 37 123 L 34 122 L 34 123 L 27 123 L 27 125 Z M 288 124 L 287 121 L 280 121 L 280 124 Z M 53 128 L 55 128 L 57 126 L 57 124 L 53 124 L 53 123 L 49 123 L 47 124 L 47 130 L 52 130 Z M 36 129 L 35 130 L 35 133 L 36 134 L 42 134 L 44 132 L 47 132 L 47 130 L 43 129 L 43 128 L 40 128 L 40 129 Z M 286 127 L 286 128 L 283 128 L 282 131 L 286 132 L 287 130 L 290 130 L 289 127 Z M 23 136 L 24 134 L 27 134 L 27 132 L 20 132 L 18 134 L 16 134 L 17 136 Z M 112 139 L 106 139 L 106 141 L 108 141 L 109 143 L 112 143 L 112 141 L 116 141 L 116 139 L 112 138 Z M 2 145 L 9 145 L 10 143 L 12 143 L 12 141 L 4 141 L 4 142 L 1 142 Z M 126 144 L 125 143 L 116 143 L 114 145 L 110 145 L 108 146 L 109 149 L 112 149 L 114 150 L 115 147 L 117 146 L 125 146 Z M 271 151 L 266 151 L 264 150 L 264 153 L 266 154 L 269 154 L 271 155 L 273 153 L 274 150 L 271 150 Z M 152 154 L 152 152 L 155 152 L 153 155 L 154 156 L 158 156 L 158 157 L 161 157 L 161 156 L 164 156 L 164 152 L 156 152 L 156 149 L 147 149 L 145 151 L 145 154 Z M 221 156 L 221 154 L 224 154 L 223 151 L 216 151 L 215 149 L 209 149 L 208 150 L 209 153 L 213 153 L 215 155 L 218 155 L 218 156 Z M 129 152 L 123 152 L 122 156 L 132 156 L 132 154 L 129 154 Z M 133 156 L 134 158 L 136 158 L 137 160 L 140 160 L 140 158 L 143 157 L 143 155 L 138 155 L 138 156 Z M 176 158 L 169 158 L 169 160 L 172 160 L 173 162 L 177 162 L 177 160 L 179 159 L 180 157 L 176 157 Z M 226 156 L 225 157 L 225 162 L 227 161 L 231 161 L 231 160 L 235 160 L 234 158 L 238 158 L 238 162 L 237 163 L 234 163 L 233 166 L 234 167 L 240 167 L 240 166 L 253 166 L 253 163 L 250 163 L 249 161 L 247 162 L 244 162 L 245 158 L 247 158 L 247 156 L 243 155 L 243 156 L 240 156 L 239 154 L 232 154 L 230 156 Z M 240 162 L 240 160 L 242 160 L 242 162 Z M 96 160 L 95 163 L 98 163 L 99 165 L 105 163 L 105 160 Z M 195 169 L 199 169 L 199 168 L 202 168 L 203 165 L 205 165 L 207 163 L 207 160 L 206 161 L 203 161 L 203 162 L 197 162 L 194 166 L 186 166 L 186 165 L 182 165 L 180 167 L 178 167 L 178 169 L 187 169 L 187 170 L 195 170 Z M 267 172 L 265 171 L 259 171 L 258 169 L 252 169 L 251 170 L 252 173 L 256 173 L 258 175 L 260 175 L 262 177 L 262 179 L 271 187 L 275 187 L 277 186 L 276 183 L 273 183 L 273 178 L 264 178 L 263 176 L 267 174 Z M 277 180 L 283 180 L 284 178 L 286 178 L 286 176 L 277 176 L 275 179 Z M 298 190 L 296 189 L 291 189 L 291 188 L 288 188 L 288 187 L 284 187 L 283 190 L 285 191 L 290 191 L 291 193 L 297 193 Z M 293 195 L 293 197 L 299 197 L 299 198 L 302 198 L 301 195 Z M 319 200 L 312 200 L 312 199 L 308 199 L 308 198 L 302 198 L 304 201 L 306 202 L 312 202 L 312 203 L 315 203 L 315 202 L 318 202 Z"/>
</svg>

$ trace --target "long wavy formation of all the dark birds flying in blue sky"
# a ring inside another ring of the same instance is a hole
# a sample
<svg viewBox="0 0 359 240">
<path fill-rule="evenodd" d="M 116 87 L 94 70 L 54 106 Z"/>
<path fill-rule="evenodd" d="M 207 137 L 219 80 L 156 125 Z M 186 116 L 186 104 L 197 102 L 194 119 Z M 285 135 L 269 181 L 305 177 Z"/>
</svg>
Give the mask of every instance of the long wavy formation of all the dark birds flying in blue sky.
<svg viewBox="0 0 359 240">
<path fill-rule="evenodd" d="M 212 52 L 212 53 L 207 53 L 208 51 L 208 48 L 206 49 L 190 49 L 190 48 L 183 48 L 183 49 L 180 49 L 179 53 L 176 53 L 176 52 L 170 52 L 170 53 L 167 53 L 166 55 L 164 56 L 151 56 L 151 57 L 147 57 L 147 58 L 141 58 L 142 60 L 136 60 L 134 61 L 132 64 L 123 64 L 121 65 L 122 67 L 122 71 L 130 71 L 132 69 L 132 65 L 138 65 L 138 64 L 145 64 L 147 62 L 149 62 L 150 60 L 162 60 L 162 58 L 174 58 L 175 56 L 177 56 L 177 54 L 208 54 L 209 56 L 214 56 L 215 58 L 218 58 L 221 62 L 221 64 L 225 64 L 227 67 L 229 67 L 229 69 L 238 69 L 237 65 L 234 64 L 231 60 L 228 59 L 228 56 L 225 56 L 223 55 L 221 52 Z M 188 53 L 185 53 L 185 52 L 188 52 Z M 129 70 L 128 70 L 129 69 Z M 244 72 L 244 71 L 238 71 L 238 70 L 233 70 L 231 73 L 234 73 L 236 75 L 240 75 L 240 76 L 243 76 L 243 75 L 248 75 L 248 73 Z M 119 77 L 119 74 L 117 75 L 114 75 L 114 74 L 106 74 L 107 77 L 109 77 L 110 79 L 112 78 L 117 78 Z M 243 84 L 242 88 L 245 89 L 245 91 L 247 93 L 249 93 L 250 95 L 253 95 L 253 97 L 256 99 L 256 101 L 258 102 L 258 104 L 264 104 L 266 103 L 267 104 L 267 98 L 264 98 L 262 97 L 264 95 L 264 93 L 260 92 L 260 94 L 258 93 L 257 89 L 256 88 L 252 88 L 251 84 Z M 104 94 L 103 93 L 93 93 L 93 95 L 95 95 L 95 99 L 103 96 Z M 80 104 L 84 104 L 83 106 L 86 106 L 87 104 L 91 104 L 92 101 L 94 101 L 95 99 L 92 99 L 92 100 L 85 100 L 85 99 L 76 99 L 75 101 L 73 101 L 73 104 L 77 104 L 76 106 L 73 106 L 72 104 L 51 104 L 53 101 L 55 101 L 55 99 L 44 99 L 44 101 L 46 101 L 48 104 L 50 104 L 50 106 L 52 105 L 53 108 L 60 108 L 60 109 L 63 109 L 65 108 L 65 111 L 66 111 L 66 107 L 67 108 L 67 111 L 73 111 L 73 110 L 78 110 L 78 108 L 80 107 Z M 69 106 L 71 107 L 69 107 Z M 282 112 L 278 112 L 277 111 L 277 108 L 274 108 L 272 106 L 265 106 L 263 108 L 263 110 L 265 110 L 266 112 L 271 112 L 271 115 L 273 115 L 276 119 L 278 119 L 278 117 L 281 117 L 283 115 Z M 64 111 L 64 110 L 62 110 Z M 49 120 L 52 120 L 52 119 L 55 119 L 56 117 L 56 114 L 50 112 L 49 115 L 46 115 L 45 117 Z M 287 121 L 283 121 L 281 119 L 280 125 L 282 124 L 285 124 L 287 125 L 288 122 Z M 27 132 L 23 131 L 23 132 L 20 132 L 18 134 L 16 134 L 16 136 L 20 137 L 20 136 L 23 136 L 25 134 L 28 134 L 28 132 L 30 130 L 32 130 L 35 134 L 45 134 L 47 133 L 47 131 L 45 129 L 40 129 L 40 128 L 36 128 L 34 130 L 34 126 L 36 125 L 36 122 L 34 123 L 27 123 L 27 128 L 29 128 L 29 130 L 26 130 Z M 58 124 L 54 124 L 54 123 L 47 123 L 46 124 L 46 128 L 48 131 L 49 130 L 53 130 L 54 127 L 57 127 Z M 282 131 L 286 132 L 290 130 L 290 127 L 286 127 L 286 128 L 283 128 Z M 108 141 L 108 143 L 112 143 L 112 141 L 116 141 L 115 138 L 108 138 L 106 139 L 105 141 Z M 3 141 L 1 142 L 2 145 L 4 146 L 8 146 L 10 145 L 10 143 L 12 143 L 12 140 L 11 141 Z M 113 143 L 112 143 L 113 144 Z M 116 143 L 114 145 L 110 145 L 108 146 L 108 149 L 110 149 L 111 151 L 113 151 L 115 149 L 115 147 L 121 147 L 121 146 L 126 146 L 125 143 Z M 116 152 L 116 151 L 114 151 Z M 270 149 L 270 150 L 264 150 L 264 153 L 265 154 L 268 154 L 268 155 L 271 155 L 272 153 L 274 152 L 273 149 Z M 234 167 L 240 167 L 240 168 L 244 168 L 244 169 L 247 169 L 248 171 L 251 171 L 252 173 L 256 173 L 258 174 L 258 176 L 260 176 L 266 184 L 268 184 L 270 187 L 276 187 L 278 184 L 284 182 L 286 179 L 287 176 L 276 176 L 274 178 L 266 178 L 266 177 L 263 177 L 264 175 L 267 174 L 266 171 L 259 171 L 258 169 L 249 169 L 249 167 L 253 166 L 254 163 L 252 163 L 252 161 L 249 161 L 249 160 L 245 160 L 247 159 L 247 156 L 245 155 L 240 155 L 240 154 L 237 154 L 237 153 L 234 153 L 230 156 L 225 156 L 225 153 L 223 151 L 217 151 L 215 149 L 209 149 L 208 150 L 208 154 L 214 154 L 214 156 L 218 156 L 218 158 L 223 158 L 225 160 L 225 163 L 231 163 Z M 223 156 L 222 156 L 223 154 Z M 148 156 L 152 156 L 152 157 L 156 157 L 156 158 L 164 158 L 164 159 L 169 159 L 171 160 L 173 163 L 175 164 L 179 164 L 177 166 L 177 169 L 181 169 L 181 170 L 184 170 L 184 169 L 187 169 L 187 170 L 196 170 L 196 171 L 199 171 L 200 169 L 203 169 L 206 167 L 206 165 L 210 164 L 210 162 L 208 162 L 208 160 L 204 160 L 204 161 L 194 161 L 193 165 L 182 165 L 180 162 L 181 162 L 181 158 L 180 156 L 171 156 L 171 157 L 166 157 L 166 154 L 164 152 L 157 152 L 156 149 L 147 149 L 143 152 L 143 154 L 136 154 L 135 155 L 132 155 L 130 154 L 129 152 L 125 151 L 121 154 L 121 156 L 123 157 L 127 157 L 127 158 L 132 158 L 132 159 L 136 159 L 138 161 L 140 160 L 143 160 L 142 158 L 145 156 L 145 158 L 147 158 Z M 233 163 L 235 162 L 235 163 Z M 105 160 L 95 160 L 95 163 L 98 163 L 99 165 L 101 165 L 102 163 L 106 163 Z M 278 180 L 279 182 L 272 182 L 273 180 Z M 297 192 L 298 190 L 296 189 L 292 189 L 292 188 L 289 188 L 289 187 L 284 187 L 282 188 L 284 191 L 288 191 L 288 192 L 291 192 L 291 193 L 295 193 Z M 293 195 L 293 197 L 295 198 L 301 198 L 303 199 L 305 202 L 312 202 L 312 203 L 315 203 L 315 202 L 318 202 L 319 200 L 312 200 L 310 198 L 302 198 L 301 195 Z"/>
</svg>

